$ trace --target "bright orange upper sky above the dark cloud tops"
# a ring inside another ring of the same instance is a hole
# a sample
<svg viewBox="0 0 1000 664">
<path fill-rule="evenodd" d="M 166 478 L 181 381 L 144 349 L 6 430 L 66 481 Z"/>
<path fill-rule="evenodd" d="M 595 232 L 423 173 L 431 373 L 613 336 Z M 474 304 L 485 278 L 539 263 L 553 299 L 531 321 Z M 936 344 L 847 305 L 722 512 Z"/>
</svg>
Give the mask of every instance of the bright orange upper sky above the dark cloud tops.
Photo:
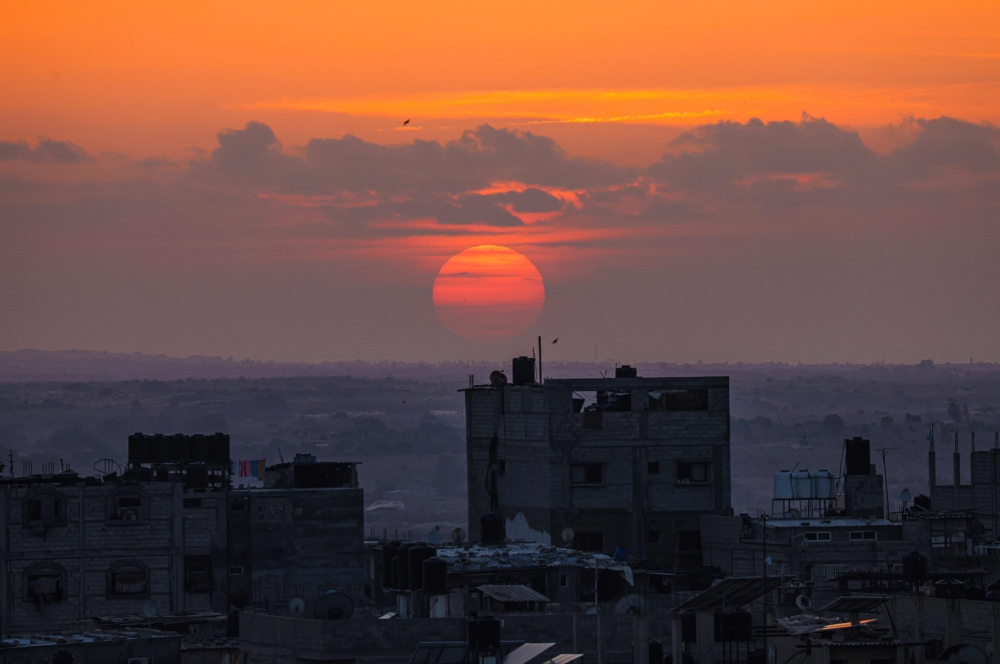
<svg viewBox="0 0 1000 664">
<path fill-rule="evenodd" d="M 252 119 L 286 145 L 446 139 L 490 122 L 640 164 L 680 127 L 751 115 L 1000 122 L 995 1 L 7 1 L 2 13 L 0 138 L 95 153 L 185 156 Z"/>
</svg>

